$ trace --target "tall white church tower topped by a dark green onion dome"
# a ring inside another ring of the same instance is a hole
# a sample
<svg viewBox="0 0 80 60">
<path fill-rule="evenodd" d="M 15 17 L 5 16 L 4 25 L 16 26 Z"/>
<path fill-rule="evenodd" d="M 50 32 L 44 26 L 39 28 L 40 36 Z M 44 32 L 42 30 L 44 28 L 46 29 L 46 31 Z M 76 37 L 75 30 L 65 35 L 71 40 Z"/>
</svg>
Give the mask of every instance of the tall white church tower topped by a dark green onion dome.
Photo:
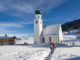
<svg viewBox="0 0 80 60">
<path fill-rule="evenodd" d="M 34 44 L 41 43 L 41 33 L 42 33 L 42 18 L 39 9 L 35 11 L 34 19 Z"/>
</svg>

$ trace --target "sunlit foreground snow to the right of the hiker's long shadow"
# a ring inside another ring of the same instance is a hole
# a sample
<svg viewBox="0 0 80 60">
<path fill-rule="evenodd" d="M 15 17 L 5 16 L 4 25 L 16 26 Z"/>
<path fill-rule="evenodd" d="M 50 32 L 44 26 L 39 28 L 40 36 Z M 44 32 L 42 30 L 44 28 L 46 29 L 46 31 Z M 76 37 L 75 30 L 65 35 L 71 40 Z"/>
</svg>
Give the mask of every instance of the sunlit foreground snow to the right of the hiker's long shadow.
<svg viewBox="0 0 80 60">
<path fill-rule="evenodd" d="M 53 60 L 66 60 L 80 57 L 80 47 L 57 48 L 53 55 Z M 78 59 L 79 60 L 79 59 Z"/>
</svg>

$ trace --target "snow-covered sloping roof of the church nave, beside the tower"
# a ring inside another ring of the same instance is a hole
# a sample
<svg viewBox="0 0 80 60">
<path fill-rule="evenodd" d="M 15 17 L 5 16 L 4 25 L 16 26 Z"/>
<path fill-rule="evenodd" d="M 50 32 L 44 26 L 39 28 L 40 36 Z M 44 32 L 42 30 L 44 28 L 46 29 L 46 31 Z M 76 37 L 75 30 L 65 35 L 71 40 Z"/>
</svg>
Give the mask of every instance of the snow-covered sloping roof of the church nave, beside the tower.
<svg viewBox="0 0 80 60">
<path fill-rule="evenodd" d="M 44 26 L 42 35 L 58 35 L 60 26 L 61 24 Z"/>
</svg>

